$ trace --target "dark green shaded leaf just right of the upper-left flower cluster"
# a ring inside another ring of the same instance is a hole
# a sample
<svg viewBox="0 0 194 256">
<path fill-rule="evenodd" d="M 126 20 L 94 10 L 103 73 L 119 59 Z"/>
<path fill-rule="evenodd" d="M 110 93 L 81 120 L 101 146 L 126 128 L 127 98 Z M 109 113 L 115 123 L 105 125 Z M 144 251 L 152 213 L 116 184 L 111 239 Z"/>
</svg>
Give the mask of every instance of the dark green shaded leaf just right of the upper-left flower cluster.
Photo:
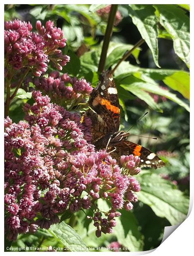
<svg viewBox="0 0 194 256">
<path fill-rule="evenodd" d="M 76 76 L 80 70 L 80 59 L 74 52 L 68 52 L 68 55 L 70 57 L 70 61 L 67 62 L 66 66 L 63 66 L 63 72 Z"/>
</svg>

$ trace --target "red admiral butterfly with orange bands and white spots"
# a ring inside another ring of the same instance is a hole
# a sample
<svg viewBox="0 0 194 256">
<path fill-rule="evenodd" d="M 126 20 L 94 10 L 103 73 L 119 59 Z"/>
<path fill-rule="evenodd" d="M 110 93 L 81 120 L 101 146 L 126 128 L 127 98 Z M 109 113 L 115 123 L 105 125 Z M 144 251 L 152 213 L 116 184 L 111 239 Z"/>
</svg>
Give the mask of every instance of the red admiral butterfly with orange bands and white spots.
<svg viewBox="0 0 194 256">
<path fill-rule="evenodd" d="M 119 131 L 120 108 L 116 85 L 110 71 L 99 75 L 99 83 L 90 94 L 90 109 L 85 116 L 92 121 L 92 143 L 97 149 L 107 149 L 118 162 L 121 155 L 140 157 L 140 167 L 160 168 L 164 162 L 149 149 L 127 140 L 130 133 Z"/>
</svg>

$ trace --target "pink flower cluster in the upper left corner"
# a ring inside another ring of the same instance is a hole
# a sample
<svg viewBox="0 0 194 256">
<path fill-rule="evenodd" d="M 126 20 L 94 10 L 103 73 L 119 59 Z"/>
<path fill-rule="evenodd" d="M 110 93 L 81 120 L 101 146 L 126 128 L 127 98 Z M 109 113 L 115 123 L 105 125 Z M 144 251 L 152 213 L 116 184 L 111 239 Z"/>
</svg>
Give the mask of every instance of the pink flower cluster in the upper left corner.
<svg viewBox="0 0 194 256">
<path fill-rule="evenodd" d="M 35 76 L 40 76 L 49 61 L 59 70 L 69 62 L 69 56 L 58 49 L 66 45 L 61 29 L 54 27 L 52 21 L 47 21 L 45 28 L 37 21 L 36 29 L 38 33 L 31 32 L 30 22 L 18 19 L 5 22 L 5 73 L 30 68 Z"/>
</svg>

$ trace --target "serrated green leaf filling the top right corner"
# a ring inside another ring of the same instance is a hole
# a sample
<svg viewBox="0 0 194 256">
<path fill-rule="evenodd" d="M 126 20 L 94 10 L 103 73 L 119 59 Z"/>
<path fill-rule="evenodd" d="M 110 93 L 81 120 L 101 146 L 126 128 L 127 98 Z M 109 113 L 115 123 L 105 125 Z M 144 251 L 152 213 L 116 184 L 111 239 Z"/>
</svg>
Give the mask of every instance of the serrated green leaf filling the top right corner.
<svg viewBox="0 0 194 256">
<path fill-rule="evenodd" d="M 156 8 L 159 12 L 160 24 L 173 39 L 175 53 L 189 67 L 189 17 L 183 9 L 175 5 L 156 5 Z"/>
</svg>

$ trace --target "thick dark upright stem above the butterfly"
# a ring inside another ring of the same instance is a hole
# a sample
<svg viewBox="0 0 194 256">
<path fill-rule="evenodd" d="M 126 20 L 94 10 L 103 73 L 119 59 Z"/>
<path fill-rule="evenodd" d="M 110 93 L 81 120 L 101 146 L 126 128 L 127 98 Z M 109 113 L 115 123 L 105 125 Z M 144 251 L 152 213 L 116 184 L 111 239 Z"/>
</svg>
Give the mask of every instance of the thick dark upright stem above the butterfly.
<svg viewBox="0 0 194 256">
<path fill-rule="evenodd" d="M 115 21 L 115 16 L 116 16 L 116 11 L 117 11 L 118 5 L 111 5 L 111 10 L 109 13 L 109 19 L 108 19 L 108 23 L 106 26 L 106 32 L 104 35 L 104 42 L 102 45 L 102 52 L 101 52 L 101 56 L 100 56 L 100 61 L 99 61 L 99 65 L 98 65 L 98 72 L 102 73 L 102 71 L 104 70 L 104 66 L 105 66 L 105 61 L 106 61 L 106 54 L 107 54 L 107 50 L 109 47 L 109 42 L 112 36 L 112 30 L 113 30 L 113 26 L 114 26 L 114 21 Z"/>
</svg>

